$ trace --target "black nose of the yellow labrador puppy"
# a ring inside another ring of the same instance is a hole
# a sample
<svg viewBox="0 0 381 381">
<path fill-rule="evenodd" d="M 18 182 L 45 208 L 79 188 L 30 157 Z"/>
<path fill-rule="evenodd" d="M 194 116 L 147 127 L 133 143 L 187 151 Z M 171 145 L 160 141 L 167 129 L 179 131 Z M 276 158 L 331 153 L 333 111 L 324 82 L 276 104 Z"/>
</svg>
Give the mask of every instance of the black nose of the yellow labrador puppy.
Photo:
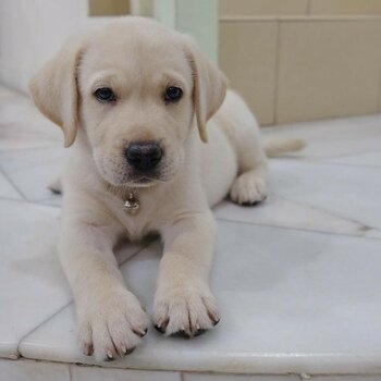
<svg viewBox="0 0 381 381">
<path fill-rule="evenodd" d="M 162 158 L 162 149 L 157 143 L 133 143 L 126 149 L 125 157 L 136 170 L 152 170 Z"/>
</svg>

